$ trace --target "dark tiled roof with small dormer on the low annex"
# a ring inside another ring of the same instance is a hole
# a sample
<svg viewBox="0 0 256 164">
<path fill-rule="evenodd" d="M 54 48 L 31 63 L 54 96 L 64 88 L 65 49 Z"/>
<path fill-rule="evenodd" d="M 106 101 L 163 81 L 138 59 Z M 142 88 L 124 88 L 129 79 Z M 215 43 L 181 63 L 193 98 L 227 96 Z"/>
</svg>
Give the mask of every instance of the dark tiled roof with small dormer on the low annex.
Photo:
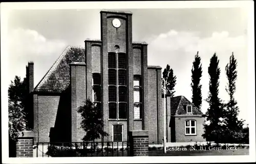
<svg viewBox="0 0 256 164">
<path fill-rule="evenodd" d="M 192 106 L 192 113 L 186 112 L 186 106 Z M 203 113 L 186 97 L 184 96 L 176 96 L 170 97 L 170 115 L 172 116 L 195 116 L 195 115 L 203 115 Z"/>
</svg>

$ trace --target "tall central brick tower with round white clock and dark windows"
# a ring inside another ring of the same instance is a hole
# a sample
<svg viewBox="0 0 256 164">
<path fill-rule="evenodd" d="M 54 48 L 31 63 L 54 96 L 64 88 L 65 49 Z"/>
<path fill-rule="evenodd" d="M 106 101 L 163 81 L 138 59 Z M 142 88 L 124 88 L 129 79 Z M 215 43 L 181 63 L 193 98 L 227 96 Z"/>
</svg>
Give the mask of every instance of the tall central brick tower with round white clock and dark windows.
<svg viewBox="0 0 256 164">
<path fill-rule="evenodd" d="M 132 13 L 102 10 L 100 18 L 103 123 L 108 131 L 122 125 L 125 140 L 133 130 Z"/>
</svg>

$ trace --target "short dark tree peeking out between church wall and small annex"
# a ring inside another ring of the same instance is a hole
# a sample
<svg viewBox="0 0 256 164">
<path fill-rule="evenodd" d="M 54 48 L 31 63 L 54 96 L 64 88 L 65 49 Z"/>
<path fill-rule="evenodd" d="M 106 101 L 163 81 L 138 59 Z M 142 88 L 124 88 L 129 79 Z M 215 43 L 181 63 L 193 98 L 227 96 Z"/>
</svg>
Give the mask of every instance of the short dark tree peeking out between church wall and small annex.
<svg viewBox="0 0 256 164">
<path fill-rule="evenodd" d="M 174 96 L 175 90 L 174 87 L 176 85 L 176 76 L 174 76 L 173 69 L 170 69 L 170 66 L 167 64 L 166 68 L 163 70 L 163 78 L 162 78 L 162 90 L 164 89 L 164 80 L 166 81 L 166 93 Z"/>
</svg>

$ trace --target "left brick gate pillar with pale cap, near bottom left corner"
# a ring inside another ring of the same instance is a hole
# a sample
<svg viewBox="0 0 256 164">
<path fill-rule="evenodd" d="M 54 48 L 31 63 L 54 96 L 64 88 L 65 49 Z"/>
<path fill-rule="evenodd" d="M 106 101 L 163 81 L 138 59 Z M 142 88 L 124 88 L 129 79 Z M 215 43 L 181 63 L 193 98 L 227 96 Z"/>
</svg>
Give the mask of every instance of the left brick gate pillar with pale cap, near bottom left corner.
<svg viewBox="0 0 256 164">
<path fill-rule="evenodd" d="M 18 135 L 16 157 L 33 157 L 33 131 L 23 131 Z"/>
</svg>

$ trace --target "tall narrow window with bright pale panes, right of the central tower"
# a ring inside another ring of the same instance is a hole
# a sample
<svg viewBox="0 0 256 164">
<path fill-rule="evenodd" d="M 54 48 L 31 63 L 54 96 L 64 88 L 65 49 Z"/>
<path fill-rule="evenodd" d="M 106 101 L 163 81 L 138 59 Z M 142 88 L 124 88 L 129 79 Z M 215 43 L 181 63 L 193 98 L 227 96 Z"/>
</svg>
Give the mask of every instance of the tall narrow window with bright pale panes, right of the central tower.
<svg viewBox="0 0 256 164">
<path fill-rule="evenodd" d="M 134 119 L 141 119 L 141 83 L 140 83 L 140 76 L 134 76 Z"/>
</svg>

